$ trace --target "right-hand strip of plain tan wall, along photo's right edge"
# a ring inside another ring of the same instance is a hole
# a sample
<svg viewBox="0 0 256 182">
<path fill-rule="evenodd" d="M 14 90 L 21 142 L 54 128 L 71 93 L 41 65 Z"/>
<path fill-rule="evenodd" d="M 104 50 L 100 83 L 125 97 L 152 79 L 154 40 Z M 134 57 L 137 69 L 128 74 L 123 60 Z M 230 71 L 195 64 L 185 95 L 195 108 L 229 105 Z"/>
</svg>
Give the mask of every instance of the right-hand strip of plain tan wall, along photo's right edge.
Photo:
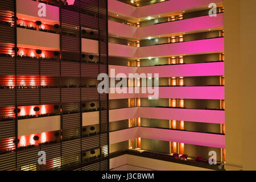
<svg viewBox="0 0 256 182">
<path fill-rule="evenodd" d="M 242 113 L 243 122 L 243 170 L 256 170 L 256 1 L 241 1 L 241 60 L 243 71 L 242 82 Z M 240 63 L 241 63 L 240 60 Z M 246 80 L 246 81 L 245 81 Z M 251 155 L 253 154 L 253 155 Z"/>
</svg>

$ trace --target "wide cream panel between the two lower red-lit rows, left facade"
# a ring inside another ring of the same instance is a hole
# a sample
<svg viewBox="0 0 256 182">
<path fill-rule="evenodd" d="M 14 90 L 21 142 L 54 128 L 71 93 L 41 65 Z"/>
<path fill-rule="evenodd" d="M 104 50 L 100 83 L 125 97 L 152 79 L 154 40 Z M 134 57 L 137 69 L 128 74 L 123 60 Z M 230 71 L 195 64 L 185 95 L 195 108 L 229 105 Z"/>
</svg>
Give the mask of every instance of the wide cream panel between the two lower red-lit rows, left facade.
<svg viewBox="0 0 256 182">
<path fill-rule="evenodd" d="M 60 115 L 18 120 L 18 136 L 60 130 Z"/>
</svg>

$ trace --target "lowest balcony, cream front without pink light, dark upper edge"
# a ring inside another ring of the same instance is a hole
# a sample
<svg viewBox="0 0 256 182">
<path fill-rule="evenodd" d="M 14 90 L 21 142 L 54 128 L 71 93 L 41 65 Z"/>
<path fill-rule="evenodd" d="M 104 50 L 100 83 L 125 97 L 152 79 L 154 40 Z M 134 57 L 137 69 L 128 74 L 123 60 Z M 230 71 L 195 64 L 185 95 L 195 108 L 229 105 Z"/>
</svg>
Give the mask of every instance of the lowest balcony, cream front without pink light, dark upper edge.
<svg viewBox="0 0 256 182">
<path fill-rule="evenodd" d="M 161 161 L 159 161 L 161 160 Z M 208 160 L 207 160 L 208 161 Z M 159 162 L 161 165 L 158 165 Z M 138 167 L 139 164 L 139 167 Z M 135 167 L 136 166 L 136 167 Z M 196 162 L 195 159 L 180 159 L 172 155 L 154 151 L 125 150 L 110 154 L 110 169 L 112 171 L 131 171 L 134 169 L 177 170 L 177 171 L 202 171 L 224 170 L 217 165 L 207 162 Z"/>
</svg>

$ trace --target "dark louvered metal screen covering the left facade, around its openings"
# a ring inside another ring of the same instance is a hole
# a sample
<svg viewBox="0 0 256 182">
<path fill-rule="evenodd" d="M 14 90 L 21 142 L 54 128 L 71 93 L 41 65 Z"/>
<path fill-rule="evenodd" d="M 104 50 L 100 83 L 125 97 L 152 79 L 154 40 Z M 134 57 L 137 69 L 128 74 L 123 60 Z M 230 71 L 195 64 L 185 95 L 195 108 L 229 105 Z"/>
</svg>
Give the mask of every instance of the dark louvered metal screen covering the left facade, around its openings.
<svg viewBox="0 0 256 182">
<path fill-rule="evenodd" d="M 17 56 L 16 1 L 0 1 L 0 170 L 108 170 L 108 94 L 98 94 L 97 76 L 108 73 L 108 5 L 76 0 L 60 5 L 60 59 Z M 97 32 L 98 63 L 82 63 L 81 30 Z M 82 102 L 99 103 L 99 134 L 82 136 Z M 18 149 L 18 106 L 60 105 L 57 143 Z M 100 150 L 100 158 L 82 161 L 82 152 Z M 38 164 L 45 151 L 46 165 Z"/>
</svg>

